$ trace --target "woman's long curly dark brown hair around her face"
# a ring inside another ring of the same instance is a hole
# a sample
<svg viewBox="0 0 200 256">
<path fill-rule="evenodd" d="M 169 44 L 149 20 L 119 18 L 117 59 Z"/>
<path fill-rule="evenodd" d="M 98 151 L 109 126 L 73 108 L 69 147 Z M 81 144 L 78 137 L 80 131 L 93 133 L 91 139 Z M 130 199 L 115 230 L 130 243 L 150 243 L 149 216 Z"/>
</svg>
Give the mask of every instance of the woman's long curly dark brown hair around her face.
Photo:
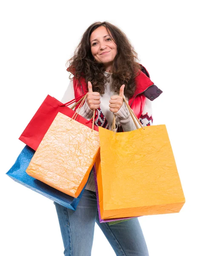
<svg viewBox="0 0 200 256">
<path fill-rule="evenodd" d="M 94 59 L 90 45 L 91 33 L 100 26 L 106 27 L 110 37 L 117 45 L 117 54 L 113 61 L 111 90 L 119 93 L 121 85 L 125 84 L 124 95 L 131 97 L 135 90 L 134 78 L 138 71 L 141 70 L 140 64 L 137 62 L 137 53 L 124 32 L 107 21 L 95 22 L 86 29 L 74 52 L 74 56 L 67 62 L 69 63 L 67 70 L 79 81 L 80 77 L 84 77 L 86 83 L 91 81 L 93 91 L 104 94 L 105 83 L 109 81 L 110 73 L 108 76 L 104 75 L 106 69 L 103 63 Z M 71 76 L 69 78 L 71 79 Z"/>
</svg>

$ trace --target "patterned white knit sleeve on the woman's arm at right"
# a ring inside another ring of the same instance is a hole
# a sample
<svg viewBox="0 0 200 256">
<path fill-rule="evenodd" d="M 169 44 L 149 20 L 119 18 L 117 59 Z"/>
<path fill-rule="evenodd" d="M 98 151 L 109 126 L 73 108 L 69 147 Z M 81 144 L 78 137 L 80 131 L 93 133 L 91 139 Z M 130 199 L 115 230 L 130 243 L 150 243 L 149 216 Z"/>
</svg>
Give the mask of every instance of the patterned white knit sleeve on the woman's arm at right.
<svg viewBox="0 0 200 256">
<path fill-rule="evenodd" d="M 123 131 L 133 131 L 137 129 L 136 126 L 134 125 L 133 119 L 131 118 L 131 115 L 125 103 L 122 105 L 120 110 L 117 113 L 115 113 L 115 115 L 117 116 L 120 125 L 123 128 Z M 149 126 L 153 123 L 151 101 L 147 98 L 143 109 L 143 113 L 141 114 L 139 121 L 143 126 Z M 137 124 L 140 127 L 138 122 Z"/>
</svg>

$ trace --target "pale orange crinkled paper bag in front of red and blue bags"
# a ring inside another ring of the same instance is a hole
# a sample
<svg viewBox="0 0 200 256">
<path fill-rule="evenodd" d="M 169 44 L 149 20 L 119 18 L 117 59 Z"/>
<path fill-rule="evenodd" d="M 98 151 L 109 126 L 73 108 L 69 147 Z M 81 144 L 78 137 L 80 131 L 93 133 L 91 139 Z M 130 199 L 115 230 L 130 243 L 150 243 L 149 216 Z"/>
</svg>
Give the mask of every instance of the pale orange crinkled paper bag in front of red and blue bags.
<svg viewBox="0 0 200 256">
<path fill-rule="evenodd" d="M 40 180 L 77 198 L 100 151 L 97 131 L 57 113 L 26 170 Z M 93 115 L 94 127 L 94 115 Z"/>
</svg>

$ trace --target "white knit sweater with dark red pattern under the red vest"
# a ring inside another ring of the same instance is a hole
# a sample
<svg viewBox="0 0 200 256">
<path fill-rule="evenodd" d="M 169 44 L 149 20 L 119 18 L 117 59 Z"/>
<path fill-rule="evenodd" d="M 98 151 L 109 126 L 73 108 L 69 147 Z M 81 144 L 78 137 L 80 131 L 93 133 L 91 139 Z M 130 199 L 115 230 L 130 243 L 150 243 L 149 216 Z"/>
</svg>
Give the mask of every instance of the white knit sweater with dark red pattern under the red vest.
<svg viewBox="0 0 200 256">
<path fill-rule="evenodd" d="M 105 75 L 107 75 L 106 72 L 105 72 Z M 100 109 L 108 121 L 109 128 L 111 128 L 112 119 L 113 119 L 113 113 L 109 110 L 109 100 L 110 100 L 110 97 L 114 94 L 116 93 L 113 93 L 110 90 L 110 83 L 107 83 L 105 93 L 100 96 Z M 71 99 L 74 99 L 74 97 L 75 96 L 74 96 L 73 80 L 71 80 L 69 83 L 69 86 L 67 87 L 66 92 L 63 95 L 61 102 L 62 103 L 69 102 Z M 128 101 L 127 98 L 126 100 Z M 80 109 L 79 114 L 89 120 L 93 115 L 93 111 L 89 108 L 89 106 L 85 102 L 82 108 Z M 116 125 L 117 126 L 121 125 L 123 128 L 123 131 L 136 130 L 136 126 L 134 125 L 134 122 L 131 118 L 131 115 L 125 103 L 122 105 L 120 110 L 117 113 L 115 113 L 115 116 L 116 116 Z M 152 125 L 153 118 L 152 118 L 151 101 L 147 98 L 146 98 L 145 106 L 143 109 L 143 113 L 140 116 L 139 120 L 143 126 Z M 86 189 L 95 192 L 93 172 L 91 172 L 90 178 L 86 185 Z"/>
</svg>

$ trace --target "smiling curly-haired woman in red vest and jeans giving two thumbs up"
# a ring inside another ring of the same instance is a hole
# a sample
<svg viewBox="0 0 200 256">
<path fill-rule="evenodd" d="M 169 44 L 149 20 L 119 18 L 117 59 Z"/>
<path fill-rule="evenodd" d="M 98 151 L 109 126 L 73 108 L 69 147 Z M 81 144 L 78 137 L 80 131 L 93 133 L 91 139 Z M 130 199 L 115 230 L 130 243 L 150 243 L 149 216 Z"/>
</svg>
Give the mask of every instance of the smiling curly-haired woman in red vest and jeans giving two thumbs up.
<svg viewBox="0 0 200 256">
<path fill-rule="evenodd" d="M 114 113 L 117 131 L 131 131 L 136 127 L 123 102 L 125 96 L 140 122 L 152 124 L 151 100 L 162 91 L 137 63 L 137 53 L 119 28 L 108 22 L 93 23 L 83 34 L 69 63 L 67 70 L 74 78 L 63 96 L 63 103 L 88 92 L 79 111 L 81 116 L 89 120 L 97 110 L 95 124 L 110 129 Z M 117 256 L 149 255 L 137 218 L 111 226 L 99 223 L 93 172 L 76 211 L 54 204 L 65 256 L 91 255 L 95 222 Z"/>
</svg>

